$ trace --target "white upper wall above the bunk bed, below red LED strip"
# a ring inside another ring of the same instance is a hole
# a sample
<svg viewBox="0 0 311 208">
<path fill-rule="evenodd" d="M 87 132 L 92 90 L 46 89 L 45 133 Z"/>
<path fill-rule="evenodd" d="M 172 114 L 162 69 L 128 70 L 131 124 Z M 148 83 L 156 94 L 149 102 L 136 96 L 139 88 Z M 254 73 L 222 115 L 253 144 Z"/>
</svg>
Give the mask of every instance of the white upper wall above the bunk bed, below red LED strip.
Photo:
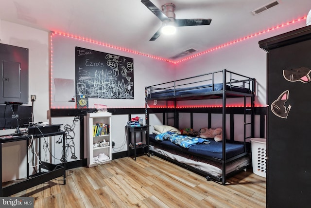
<svg viewBox="0 0 311 208">
<path fill-rule="evenodd" d="M 300 21 L 181 62 L 176 66 L 176 76 L 178 76 L 177 78 L 185 78 L 226 69 L 244 76 L 253 77 L 257 81 L 255 105 L 266 106 L 267 53 L 259 48 L 258 42 L 305 25 L 305 21 Z M 245 34 L 245 36 L 247 35 L 250 34 Z"/>
</svg>

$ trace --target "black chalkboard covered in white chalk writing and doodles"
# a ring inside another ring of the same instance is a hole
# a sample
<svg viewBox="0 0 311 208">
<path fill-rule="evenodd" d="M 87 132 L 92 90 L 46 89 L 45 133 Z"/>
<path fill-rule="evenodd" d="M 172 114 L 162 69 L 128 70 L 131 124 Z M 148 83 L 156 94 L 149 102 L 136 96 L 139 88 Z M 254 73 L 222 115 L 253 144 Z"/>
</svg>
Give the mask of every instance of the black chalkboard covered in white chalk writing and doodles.
<svg viewBox="0 0 311 208">
<path fill-rule="evenodd" d="M 75 48 L 76 95 L 134 99 L 133 58 Z"/>
</svg>

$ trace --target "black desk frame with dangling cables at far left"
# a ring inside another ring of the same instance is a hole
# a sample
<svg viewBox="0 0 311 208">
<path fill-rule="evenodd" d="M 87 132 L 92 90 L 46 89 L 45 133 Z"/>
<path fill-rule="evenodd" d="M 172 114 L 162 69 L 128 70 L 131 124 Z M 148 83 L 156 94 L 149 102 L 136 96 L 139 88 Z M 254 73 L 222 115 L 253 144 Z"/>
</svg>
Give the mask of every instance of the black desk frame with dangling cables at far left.
<svg viewBox="0 0 311 208">
<path fill-rule="evenodd" d="M 66 152 L 65 144 L 66 144 L 66 132 L 52 132 L 52 133 L 43 133 L 43 134 L 34 134 L 34 139 L 39 139 L 39 147 L 41 147 L 41 139 L 43 137 L 49 137 L 49 136 L 57 136 L 57 135 L 63 135 L 63 151 Z M 2 187 L 2 144 L 7 142 L 16 142 L 16 141 L 22 141 L 26 140 L 27 142 L 27 148 L 29 146 L 29 140 L 32 138 L 31 135 L 22 135 L 22 136 L 16 136 L 13 138 L 5 138 L 1 139 L 1 148 L 0 148 L 0 182 L 1 182 L 1 189 L 0 189 L 0 197 L 1 196 L 11 196 L 15 193 L 18 193 L 22 190 L 32 188 L 34 186 L 37 186 L 39 184 L 45 183 L 47 181 L 50 181 L 54 178 L 57 178 L 59 176 L 64 177 L 64 185 L 66 184 L 66 158 L 65 162 L 61 165 L 55 165 L 51 163 L 47 163 L 44 161 L 41 161 L 41 165 L 39 165 L 38 173 L 35 176 L 29 176 L 29 164 L 28 164 L 28 151 L 27 151 L 27 179 L 12 184 L 7 187 Z M 66 155 L 66 154 L 64 154 Z M 41 158 L 41 151 L 39 151 L 39 158 Z M 50 170 L 48 172 L 41 173 L 41 168 Z"/>
</svg>

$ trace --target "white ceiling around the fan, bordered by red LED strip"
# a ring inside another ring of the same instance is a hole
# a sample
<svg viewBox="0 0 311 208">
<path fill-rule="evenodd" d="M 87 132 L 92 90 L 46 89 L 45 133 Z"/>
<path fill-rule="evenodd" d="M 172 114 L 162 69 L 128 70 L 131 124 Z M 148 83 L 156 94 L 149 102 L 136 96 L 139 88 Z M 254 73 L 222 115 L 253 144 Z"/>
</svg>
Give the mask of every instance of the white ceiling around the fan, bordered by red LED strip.
<svg viewBox="0 0 311 208">
<path fill-rule="evenodd" d="M 45 31 L 64 32 L 143 54 L 170 58 L 184 50 L 199 52 L 304 17 L 311 0 L 151 0 L 174 3 L 176 19 L 212 19 L 210 25 L 179 27 L 173 36 L 149 39 L 161 21 L 140 0 L 0 0 L 0 19 Z"/>
</svg>

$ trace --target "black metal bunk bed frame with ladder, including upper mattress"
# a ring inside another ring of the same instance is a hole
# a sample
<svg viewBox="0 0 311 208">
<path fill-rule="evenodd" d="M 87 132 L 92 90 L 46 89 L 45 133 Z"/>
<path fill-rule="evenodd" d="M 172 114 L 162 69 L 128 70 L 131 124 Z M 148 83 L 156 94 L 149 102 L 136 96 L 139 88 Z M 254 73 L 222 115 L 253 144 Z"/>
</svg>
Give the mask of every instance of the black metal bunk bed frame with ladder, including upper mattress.
<svg viewBox="0 0 311 208">
<path fill-rule="evenodd" d="M 221 79 L 219 79 L 221 76 Z M 191 81 L 190 81 L 191 80 Z M 190 82 L 189 82 L 190 81 Z M 198 86 L 199 85 L 199 86 Z M 200 76 L 192 76 L 185 79 L 174 80 L 172 82 L 165 82 L 157 85 L 148 86 L 145 88 L 145 113 L 146 113 L 146 125 L 149 124 L 149 113 L 152 111 L 152 108 L 148 107 L 148 101 L 152 100 L 163 100 L 173 101 L 173 108 L 170 108 L 170 112 L 174 113 L 174 125 L 178 128 L 178 111 L 180 111 L 177 107 L 178 101 L 183 100 L 203 100 L 203 99 L 222 99 L 222 128 L 223 128 L 223 140 L 222 140 L 222 150 L 226 150 L 226 99 L 227 98 L 243 98 L 242 103 L 242 111 L 243 111 L 243 119 L 244 119 L 244 134 L 243 134 L 243 151 L 242 153 L 238 153 L 235 155 L 231 155 L 230 158 L 227 158 L 226 152 L 222 151 L 222 155 L 220 158 L 216 158 L 213 156 L 204 156 L 204 158 L 217 162 L 221 164 L 222 174 L 220 176 L 215 176 L 209 174 L 205 171 L 198 170 L 193 166 L 189 166 L 186 164 L 182 164 L 173 159 L 170 159 L 166 156 L 158 154 L 157 152 L 153 152 L 156 156 L 167 159 L 177 165 L 190 169 L 194 172 L 197 172 L 201 175 L 206 176 L 207 180 L 214 180 L 217 182 L 221 182 L 225 185 L 226 176 L 232 175 L 236 172 L 246 169 L 250 163 L 243 165 L 243 167 L 239 167 L 236 170 L 231 171 L 226 174 L 226 164 L 233 162 L 234 160 L 238 160 L 244 156 L 247 156 L 250 152 L 250 148 L 247 148 L 246 139 L 250 137 L 254 137 L 254 96 L 255 96 L 255 78 L 250 78 L 247 76 L 242 76 L 237 73 L 233 73 L 227 70 L 207 73 Z M 250 103 L 247 106 L 247 103 Z M 195 108 L 194 108 L 195 109 Z M 241 109 L 239 109 L 241 110 Z M 190 110 L 191 111 L 191 110 Z M 191 112 L 190 112 L 191 113 Z M 246 114 L 250 115 L 250 122 L 246 121 Z M 164 115 L 163 115 L 164 120 Z M 210 125 L 210 124 L 209 124 Z M 246 127 L 250 127 L 250 135 L 246 135 Z M 150 137 L 151 138 L 151 137 Z M 182 150 L 189 154 L 188 150 Z M 194 156 L 200 156 L 200 154 L 190 153 Z"/>
</svg>

